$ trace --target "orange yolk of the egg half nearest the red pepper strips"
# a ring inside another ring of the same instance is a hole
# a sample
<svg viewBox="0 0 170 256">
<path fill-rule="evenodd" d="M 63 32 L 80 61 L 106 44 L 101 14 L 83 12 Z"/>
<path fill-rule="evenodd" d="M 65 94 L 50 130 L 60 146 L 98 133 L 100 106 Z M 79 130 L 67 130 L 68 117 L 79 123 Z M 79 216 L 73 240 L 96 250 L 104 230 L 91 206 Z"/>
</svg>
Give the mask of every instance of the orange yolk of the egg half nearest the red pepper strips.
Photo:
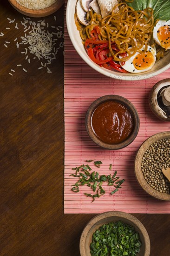
<svg viewBox="0 0 170 256">
<path fill-rule="evenodd" d="M 142 54 L 137 54 L 132 63 L 136 69 L 143 70 L 152 67 L 155 63 L 155 59 L 153 54 L 151 54 L 150 51 L 147 51 Z"/>
</svg>

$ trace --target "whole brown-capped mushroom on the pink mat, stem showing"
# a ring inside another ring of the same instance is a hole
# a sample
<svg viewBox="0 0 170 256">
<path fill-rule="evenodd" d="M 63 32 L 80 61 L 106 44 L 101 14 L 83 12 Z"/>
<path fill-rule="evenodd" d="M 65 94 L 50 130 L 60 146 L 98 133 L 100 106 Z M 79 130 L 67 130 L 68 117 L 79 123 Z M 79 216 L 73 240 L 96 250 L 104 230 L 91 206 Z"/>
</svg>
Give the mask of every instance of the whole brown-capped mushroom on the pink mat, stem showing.
<svg viewBox="0 0 170 256">
<path fill-rule="evenodd" d="M 163 121 L 170 121 L 170 79 L 157 82 L 149 96 L 152 112 Z"/>
</svg>

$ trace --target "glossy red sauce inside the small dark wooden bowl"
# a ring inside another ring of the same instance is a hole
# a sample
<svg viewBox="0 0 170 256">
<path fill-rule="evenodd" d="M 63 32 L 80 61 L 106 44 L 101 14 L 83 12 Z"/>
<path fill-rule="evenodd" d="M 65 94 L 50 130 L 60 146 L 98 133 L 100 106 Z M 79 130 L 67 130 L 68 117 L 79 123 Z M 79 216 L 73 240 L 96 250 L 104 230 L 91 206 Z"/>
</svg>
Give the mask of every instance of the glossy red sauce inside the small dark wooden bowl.
<svg viewBox="0 0 170 256">
<path fill-rule="evenodd" d="M 118 101 L 106 101 L 94 110 L 91 125 L 99 140 L 117 144 L 131 135 L 133 118 L 123 104 Z"/>
</svg>

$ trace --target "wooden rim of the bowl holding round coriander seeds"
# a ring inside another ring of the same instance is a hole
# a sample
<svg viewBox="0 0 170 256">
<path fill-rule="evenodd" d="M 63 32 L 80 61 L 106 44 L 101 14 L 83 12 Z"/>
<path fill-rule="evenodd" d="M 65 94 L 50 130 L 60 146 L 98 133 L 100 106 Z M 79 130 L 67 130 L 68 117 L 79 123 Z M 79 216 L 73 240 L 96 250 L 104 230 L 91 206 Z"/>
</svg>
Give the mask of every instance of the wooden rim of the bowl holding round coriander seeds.
<svg viewBox="0 0 170 256">
<path fill-rule="evenodd" d="M 138 149 L 137 155 L 136 155 L 135 161 L 134 161 L 134 172 L 135 172 L 135 176 L 136 176 L 137 182 L 140 185 L 140 187 L 147 194 L 151 195 L 152 197 L 155 197 L 159 200 L 164 200 L 164 201 L 170 201 L 170 194 L 158 192 L 157 190 L 152 189 L 152 187 L 150 187 L 150 185 L 144 179 L 144 175 L 143 175 L 142 169 L 141 169 L 141 162 L 142 162 L 142 158 L 143 158 L 145 151 L 150 147 L 150 145 L 152 143 L 154 143 L 155 141 L 165 139 L 165 138 L 169 138 L 169 137 L 170 137 L 170 131 L 161 132 L 161 133 L 157 133 L 155 135 L 150 136 L 148 139 L 146 139 L 142 143 L 142 145 Z M 149 145 L 148 145 L 148 143 L 149 143 Z M 144 151 L 144 153 L 142 154 L 143 151 Z M 144 183 L 144 186 L 141 183 Z"/>
</svg>

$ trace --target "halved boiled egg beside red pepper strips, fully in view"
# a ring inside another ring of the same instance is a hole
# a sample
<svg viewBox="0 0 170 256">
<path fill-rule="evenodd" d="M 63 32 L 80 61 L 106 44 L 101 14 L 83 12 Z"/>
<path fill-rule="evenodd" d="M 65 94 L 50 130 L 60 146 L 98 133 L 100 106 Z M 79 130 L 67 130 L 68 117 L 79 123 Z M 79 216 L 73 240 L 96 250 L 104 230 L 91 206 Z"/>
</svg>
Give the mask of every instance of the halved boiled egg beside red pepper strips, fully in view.
<svg viewBox="0 0 170 256">
<path fill-rule="evenodd" d="M 132 47 L 128 49 L 131 50 Z M 131 73 L 141 73 L 150 70 L 156 61 L 156 49 L 148 46 L 147 51 L 144 52 L 145 47 L 141 49 L 142 53 L 136 52 L 129 60 L 125 63 L 119 61 L 120 65 Z M 121 56 L 119 56 L 122 59 Z M 124 65 L 123 65 L 124 64 Z"/>
</svg>

